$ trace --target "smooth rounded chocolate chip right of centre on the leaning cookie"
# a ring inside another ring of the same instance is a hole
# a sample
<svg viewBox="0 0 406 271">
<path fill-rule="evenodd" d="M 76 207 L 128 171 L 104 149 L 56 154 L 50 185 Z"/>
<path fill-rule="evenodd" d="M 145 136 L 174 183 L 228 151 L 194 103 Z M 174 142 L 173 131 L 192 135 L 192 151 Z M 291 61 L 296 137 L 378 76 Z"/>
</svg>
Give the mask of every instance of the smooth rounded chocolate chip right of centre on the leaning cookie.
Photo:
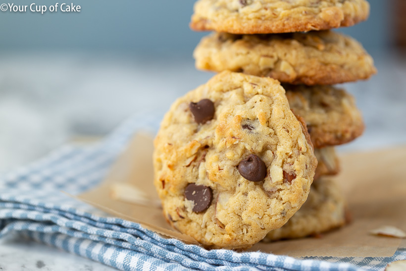
<svg viewBox="0 0 406 271">
<path fill-rule="evenodd" d="M 238 164 L 238 171 L 241 176 L 252 182 L 260 182 L 266 176 L 265 163 L 253 154 Z"/>
</svg>

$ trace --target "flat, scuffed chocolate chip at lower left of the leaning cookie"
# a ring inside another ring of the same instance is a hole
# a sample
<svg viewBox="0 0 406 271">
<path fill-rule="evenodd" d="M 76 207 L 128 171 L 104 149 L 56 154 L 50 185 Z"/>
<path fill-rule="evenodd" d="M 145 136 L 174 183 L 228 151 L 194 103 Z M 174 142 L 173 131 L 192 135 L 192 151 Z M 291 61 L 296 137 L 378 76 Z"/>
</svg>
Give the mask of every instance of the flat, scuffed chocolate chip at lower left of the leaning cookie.
<svg viewBox="0 0 406 271">
<path fill-rule="evenodd" d="M 211 200 L 213 199 L 213 192 L 210 187 L 190 183 L 186 186 L 185 197 L 194 202 L 192 211 L 201 213 L 210 206 Z"/>
</svg>

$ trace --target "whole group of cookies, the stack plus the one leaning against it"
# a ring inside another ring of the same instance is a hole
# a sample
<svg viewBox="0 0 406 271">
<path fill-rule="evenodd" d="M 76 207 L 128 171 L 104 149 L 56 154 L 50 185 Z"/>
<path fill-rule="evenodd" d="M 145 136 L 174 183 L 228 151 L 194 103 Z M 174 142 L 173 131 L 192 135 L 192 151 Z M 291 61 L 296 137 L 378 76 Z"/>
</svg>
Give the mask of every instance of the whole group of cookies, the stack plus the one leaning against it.
<svg viewBox="0 0 406 271">
<path fill-rule="evenodd" d="M 339 172 L 334 146 L 364 125 L 333 84 L 375 68 L 359 43 L 328 29 L 368 13 L 365 0 L 196 2 L 191 27 L 217 31 L 196 48 L 196 66 L 219 74 L 171 106 L 154 140 L 169 224 L 233 249 L 344 224 L 343 195 L 324 176 Z"/>
</svg>

